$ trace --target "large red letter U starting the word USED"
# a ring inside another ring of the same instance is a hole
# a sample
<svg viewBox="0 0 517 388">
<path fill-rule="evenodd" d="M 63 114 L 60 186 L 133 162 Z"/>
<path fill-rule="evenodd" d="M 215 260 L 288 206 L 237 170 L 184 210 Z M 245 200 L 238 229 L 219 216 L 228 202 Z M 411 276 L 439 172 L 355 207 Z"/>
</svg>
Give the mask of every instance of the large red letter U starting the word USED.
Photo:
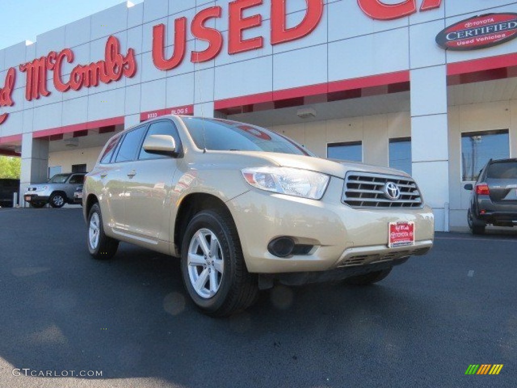
<svg viewBox="0 0 517 388">
<path fill-rule="evenodd" d="M 174 21 L 174 52 L 165 59 L 165 25 L 153 27 L 153 63 L 160 70 L 171 70 L 178 66 L 185 57 L 185 42 L 187 40 L 187 18 Z"/>
</svg>

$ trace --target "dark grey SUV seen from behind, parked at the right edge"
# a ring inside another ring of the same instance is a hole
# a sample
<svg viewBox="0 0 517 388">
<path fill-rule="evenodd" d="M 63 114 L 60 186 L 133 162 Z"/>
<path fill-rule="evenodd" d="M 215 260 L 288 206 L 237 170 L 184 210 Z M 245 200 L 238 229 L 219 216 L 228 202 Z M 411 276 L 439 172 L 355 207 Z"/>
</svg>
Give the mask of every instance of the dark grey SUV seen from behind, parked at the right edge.
<svg viewBox="0 0 517 388">
<path fill-rule="evenodd" d="M 464 187 L 472 190 L 467 220 L 473 234 L 483 234 L 488 223 L 517 225 L 517 159 L 490 159 L 476 183 Z"/>
</svg>

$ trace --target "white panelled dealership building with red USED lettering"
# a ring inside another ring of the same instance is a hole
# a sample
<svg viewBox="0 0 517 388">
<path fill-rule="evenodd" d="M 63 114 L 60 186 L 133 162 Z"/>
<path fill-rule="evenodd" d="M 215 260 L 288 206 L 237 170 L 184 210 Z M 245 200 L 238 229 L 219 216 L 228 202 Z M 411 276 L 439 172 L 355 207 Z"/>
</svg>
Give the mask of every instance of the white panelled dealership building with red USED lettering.
<svg viewBox="0 0 517 388">
<path fill-rule="evenodd" d="M 411 173 L 466 227 L 490 158 L 517 157 L 517 2 L 145 0 L 0 50 L 0 154 L 21 188 L 89 171 L 150 117 L 227 117 L 321 157 Z"/>
</svg>

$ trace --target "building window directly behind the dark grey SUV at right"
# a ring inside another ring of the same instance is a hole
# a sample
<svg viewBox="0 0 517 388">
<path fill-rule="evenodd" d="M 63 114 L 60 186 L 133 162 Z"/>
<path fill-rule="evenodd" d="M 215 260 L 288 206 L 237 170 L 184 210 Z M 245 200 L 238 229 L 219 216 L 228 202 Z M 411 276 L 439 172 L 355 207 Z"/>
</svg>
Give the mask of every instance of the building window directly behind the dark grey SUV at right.
<svg viewBox="0 0 517 388">
<path fill-rule="evenodd" d="M 508 129 L 461 134 L 461 179 L 476 181 L 490 159 L 510 157 Z"/>
</svg>

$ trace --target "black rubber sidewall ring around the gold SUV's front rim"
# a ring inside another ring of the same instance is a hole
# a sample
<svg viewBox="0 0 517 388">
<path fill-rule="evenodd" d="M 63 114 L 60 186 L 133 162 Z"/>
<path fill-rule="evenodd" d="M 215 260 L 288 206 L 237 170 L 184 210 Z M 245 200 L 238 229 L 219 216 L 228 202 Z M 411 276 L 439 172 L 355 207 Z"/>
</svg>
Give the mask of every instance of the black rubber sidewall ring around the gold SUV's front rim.
<svg viewBox="0 0 517 388">
<path fill-rule="evenodd" d="M 213 232 L 221 246 L 223 253 L 224 270 L 221 285 L 217 293 L 209 299 L 204 299 L 194 290 L 188 273 L 188 250 L 192 236 L 200 229 L 208 229 Z M 207 312 L 218 310 L 226 301 L 235 280 L 235 246 L 229 228 L 222 217 L 211 211 L 203 211 L 192 218 L 187 226 L 183 242 L 181 243 L 181 277 L 185 289 L 194 303 Z"/>
</svg>

